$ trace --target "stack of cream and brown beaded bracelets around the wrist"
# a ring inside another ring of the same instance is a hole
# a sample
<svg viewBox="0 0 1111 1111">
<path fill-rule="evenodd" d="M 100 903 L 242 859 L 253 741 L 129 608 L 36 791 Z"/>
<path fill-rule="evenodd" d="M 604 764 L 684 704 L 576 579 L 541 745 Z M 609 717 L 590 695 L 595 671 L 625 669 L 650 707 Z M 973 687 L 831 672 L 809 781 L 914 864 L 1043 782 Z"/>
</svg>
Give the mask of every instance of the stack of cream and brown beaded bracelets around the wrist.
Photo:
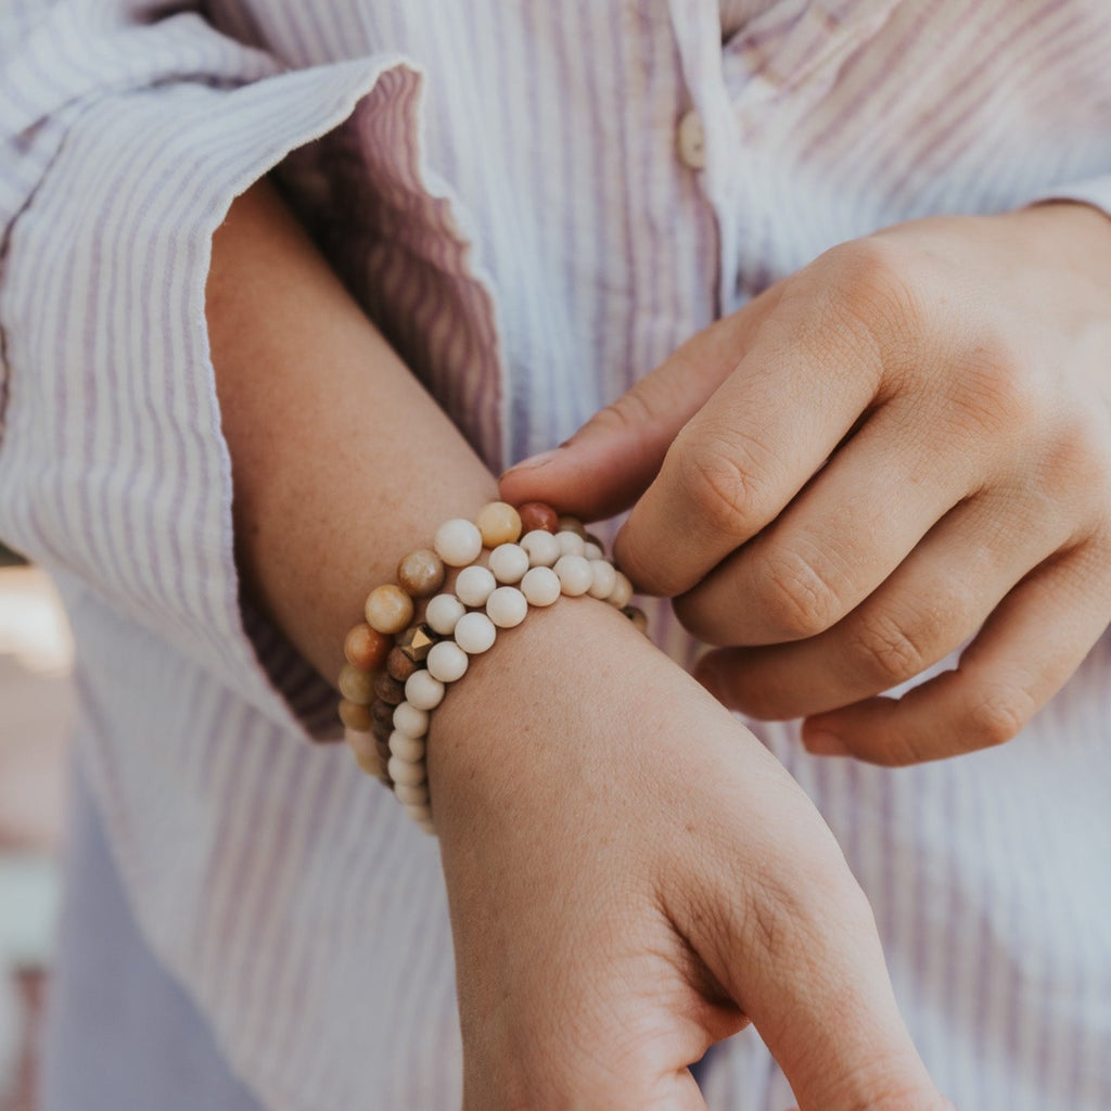
<svg viewBox="0 0 1111 1111">
<path fill-rule="evenodd" d="M 449 568 L 459 570 L 453 591 L 440 592 Z M 473 521 L 447 521 L 431 549 L 398 563 L 397 580 L 370 592 L 366 620 L 347 634 L 340 718 L 359 767 L 434 833 L 424 759 L 429 714 L 471 657 L 492 648 L 530 608 L 563 595 L 607 601 L 641 631 L 648 622 L 629 604 L 632 583 L 601 543 L 580 521 L 540 502 L 520 509 L 490 502 Z"/>
</svg>

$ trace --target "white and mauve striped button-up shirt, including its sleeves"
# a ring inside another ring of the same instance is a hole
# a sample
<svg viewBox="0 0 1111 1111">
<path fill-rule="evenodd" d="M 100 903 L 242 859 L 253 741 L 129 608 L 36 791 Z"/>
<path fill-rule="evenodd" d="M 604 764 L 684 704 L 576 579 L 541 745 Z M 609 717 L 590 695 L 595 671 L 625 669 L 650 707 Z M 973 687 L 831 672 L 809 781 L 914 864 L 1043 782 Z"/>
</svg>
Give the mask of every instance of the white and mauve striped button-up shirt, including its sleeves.
<svg viewBox="0 0 1111 1111">
<path fill-rule="evenodd" d="M 329 692 L 239 605 L 213 229 L 281 163 L 498 469 L 838 241 L 1048 196 L 1111 209 L 1111 9 L 7 0 L 0 58 L 0 536 L 64 590 L 129 912 L 261 1107 L 457 1107 L 436 847 L 306 743 Z M 965 1111 L 1111 1108 L 1109 673 L 1104 637 L 1013 743 L 899 772 L 760 729 Z M 752 1034 L 707 1094 L 791 1102 Z"/>
</svg>

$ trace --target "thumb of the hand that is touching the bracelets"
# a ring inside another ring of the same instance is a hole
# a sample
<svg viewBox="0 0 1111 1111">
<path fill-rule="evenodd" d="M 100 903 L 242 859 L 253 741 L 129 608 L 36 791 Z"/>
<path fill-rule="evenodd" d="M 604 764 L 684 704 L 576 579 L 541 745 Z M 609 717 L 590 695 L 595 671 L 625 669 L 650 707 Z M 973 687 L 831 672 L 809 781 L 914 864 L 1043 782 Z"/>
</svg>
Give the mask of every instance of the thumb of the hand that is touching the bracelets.
<svg viewBox="0 0 1111 1111">
<path fill-rule="evenodd" d="M 779 298 L 773 286 L 698 332 L 565 443 L 506 471 L 501 497 L 517 506 L 547 502 L 585 520 L 628 509 L 655 478 L 679 430 L 737 368 Z"/>
</svg>

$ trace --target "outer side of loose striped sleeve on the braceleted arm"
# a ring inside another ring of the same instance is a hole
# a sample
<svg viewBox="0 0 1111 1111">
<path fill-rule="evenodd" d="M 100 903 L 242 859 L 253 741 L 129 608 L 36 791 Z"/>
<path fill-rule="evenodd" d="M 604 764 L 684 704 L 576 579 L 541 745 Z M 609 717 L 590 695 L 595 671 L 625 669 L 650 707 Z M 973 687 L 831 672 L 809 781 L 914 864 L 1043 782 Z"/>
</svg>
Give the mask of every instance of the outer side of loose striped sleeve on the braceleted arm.
<svg viewBox="0 0 1111 1111">
<path fill-rule="evenodd" d="M 0 536 L 276 721 L 316 708 L 327 728 L 324 685 L 240 608 L 204 286 L 236 196 L 417 74 L 397 57 L 283 71 L 164 8 L 0 18 Z"/>
</svg>

